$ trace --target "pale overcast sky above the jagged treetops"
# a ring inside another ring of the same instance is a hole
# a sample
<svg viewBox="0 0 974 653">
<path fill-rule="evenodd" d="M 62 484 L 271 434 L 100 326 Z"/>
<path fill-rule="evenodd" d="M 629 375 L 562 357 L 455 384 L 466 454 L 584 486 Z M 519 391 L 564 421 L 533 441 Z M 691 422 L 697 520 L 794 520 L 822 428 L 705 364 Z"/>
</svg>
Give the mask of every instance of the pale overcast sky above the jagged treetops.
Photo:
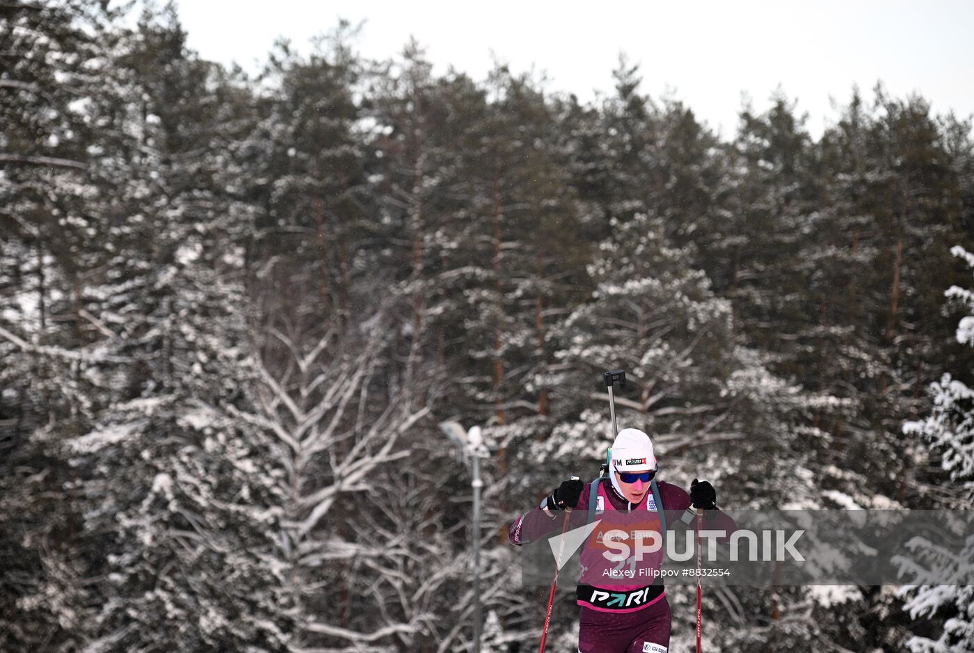
<svg viewBox="0 0 974 653">
<path fill-rule="evenodd" d="M 974 113 L 974 1 L 814 2 L 396 2 L 368 0 L 177 0 L 189 44 L 208 59 L 256 62 L 286 36 L 309 39 L 339 17 L 365 20 L 359 52 L 398 54 L 410 35 L 434 72 L 448 65 L 483 79 L 494 56 L 514 71 L 534 66 L 552 91 L 582 100 L 613 90 L 618 54 L 641 64 L 642 90 L 683 100 L 730 136 L 742 94 L 757 109 L 779 86 L 798 99 L 815 135 L 845 102 L 882 80 L 919 91 L 935 112 Z"/>
</svg>

